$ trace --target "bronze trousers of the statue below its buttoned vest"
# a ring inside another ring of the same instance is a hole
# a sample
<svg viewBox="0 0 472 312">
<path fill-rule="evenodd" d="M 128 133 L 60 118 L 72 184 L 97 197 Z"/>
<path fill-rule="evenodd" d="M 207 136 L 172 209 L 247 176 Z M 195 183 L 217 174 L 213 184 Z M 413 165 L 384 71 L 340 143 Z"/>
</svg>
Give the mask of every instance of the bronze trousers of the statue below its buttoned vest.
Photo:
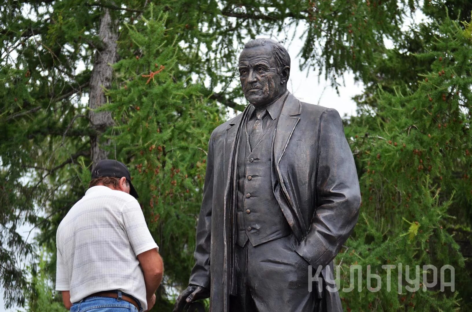
<svg viewBox="0 0 472 312">
<path fill-rule="evenodd" d="M 230 296 L 230 312 L 323 311 L 316 285 L 309 292 L 308 266 L 295 252 L 290 234 L 253 247 L 235 246 L 237 295 Z"/>
</svg>

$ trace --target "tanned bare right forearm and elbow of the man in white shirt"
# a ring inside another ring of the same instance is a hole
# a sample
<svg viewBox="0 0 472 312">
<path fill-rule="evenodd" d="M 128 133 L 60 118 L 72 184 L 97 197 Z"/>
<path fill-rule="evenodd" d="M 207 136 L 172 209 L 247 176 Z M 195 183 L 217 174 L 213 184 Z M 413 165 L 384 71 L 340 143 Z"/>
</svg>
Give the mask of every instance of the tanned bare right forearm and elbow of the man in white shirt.
<svg viewBox="0 0 472 312">
<path fill-rule="evenodd" d="M 137 255 L 143 269 L 144 283 L 146 284 L 146 298 L 148 302 L 156 292 L 164 273 L 164 264 L 156 248 Z M 151 307 L 148 307 L 151 309 Z"/>
</svg>

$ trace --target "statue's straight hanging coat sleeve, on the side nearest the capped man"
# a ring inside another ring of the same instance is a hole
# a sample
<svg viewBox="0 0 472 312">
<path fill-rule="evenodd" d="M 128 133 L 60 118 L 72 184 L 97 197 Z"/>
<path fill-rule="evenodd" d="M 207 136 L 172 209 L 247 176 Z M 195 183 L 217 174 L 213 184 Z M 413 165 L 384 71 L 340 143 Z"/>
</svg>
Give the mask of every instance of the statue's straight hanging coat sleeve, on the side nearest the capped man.
<svg viewBox="0 0 472 312">
<path fill-rule="evenodd" d="M 195 265 L 189 284 L 210 289 L 211 208 L 213 206 L 213 140 L 208 143 L 203 200 L 196 231 Z"/>
</svg>

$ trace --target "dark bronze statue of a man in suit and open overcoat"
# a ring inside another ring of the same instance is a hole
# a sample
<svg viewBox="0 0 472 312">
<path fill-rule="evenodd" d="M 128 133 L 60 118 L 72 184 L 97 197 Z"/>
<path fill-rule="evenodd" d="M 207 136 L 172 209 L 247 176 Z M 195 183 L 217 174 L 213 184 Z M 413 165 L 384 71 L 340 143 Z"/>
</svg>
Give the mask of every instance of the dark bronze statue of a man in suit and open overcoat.
<svg viewBox="0 0 472 312">
<path fill-rule="evenodd" d="M 276 41 L 246 43 L 239 73 L 251 104 L 211 134 L 196 263 L 174 311 L 208 297 L 212 312 L 342 311 L 327 286 L 361 195 L 341 118 L 287 91 Z M 312 292 L 309 265 L 323 268 Z"/>
</svg>

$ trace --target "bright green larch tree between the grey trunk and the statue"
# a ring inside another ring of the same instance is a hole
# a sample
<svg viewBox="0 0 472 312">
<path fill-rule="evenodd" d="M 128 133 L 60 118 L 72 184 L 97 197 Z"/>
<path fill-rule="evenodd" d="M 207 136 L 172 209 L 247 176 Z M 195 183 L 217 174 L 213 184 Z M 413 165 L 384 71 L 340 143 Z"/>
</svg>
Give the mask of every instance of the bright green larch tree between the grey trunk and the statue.
<svg viewBox="0 0 472 312">
<path fill-rule="evenodd" d="M 114 112 L 115 126 L 105 136 L 110 155 L 116 152 L 132 168 L 169 282 L 185 284 L 193 266 L 206 145 L 222 112 L 202 96 L 201 85 L 174 82 L 176 43 L 160 17 L 126 27 L 141 54 L 114 65 L 117 88 L 108 92 L 110 104 L 103 109 Z"/>
</svg>

